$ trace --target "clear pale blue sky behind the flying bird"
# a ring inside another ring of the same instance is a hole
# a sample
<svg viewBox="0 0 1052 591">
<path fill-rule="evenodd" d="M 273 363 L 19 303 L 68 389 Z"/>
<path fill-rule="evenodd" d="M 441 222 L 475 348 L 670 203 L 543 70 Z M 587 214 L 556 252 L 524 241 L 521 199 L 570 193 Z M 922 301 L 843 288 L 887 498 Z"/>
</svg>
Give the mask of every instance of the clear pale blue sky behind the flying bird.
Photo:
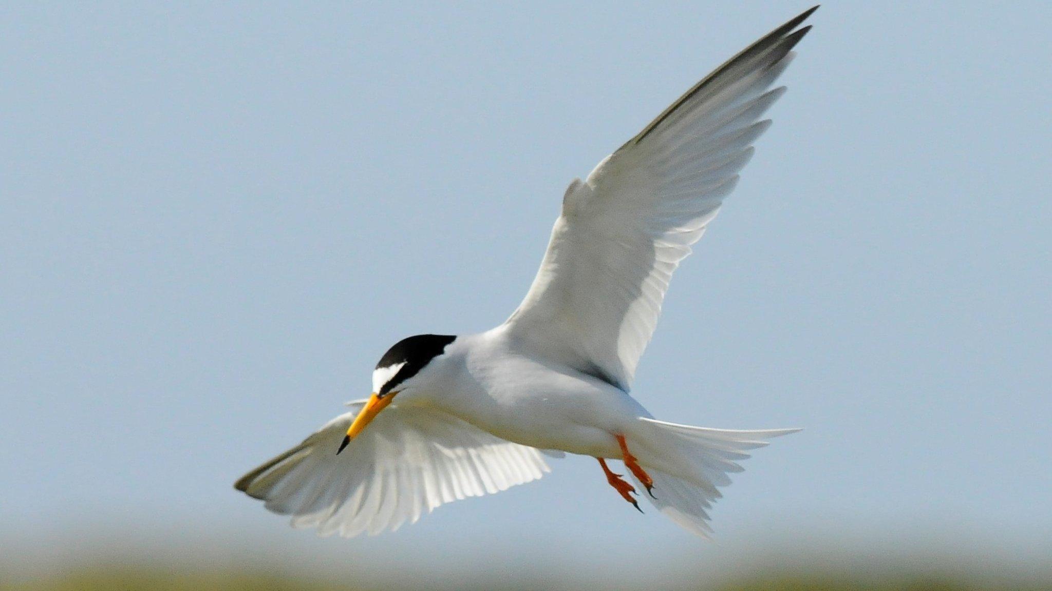
<svg viewBox="0 0 1052 591">
<path fill-rule="evenodd" d="M 566 184 L 808 5 L 5 3 L 0 534 L 716 555 L 585 458 L 352 541 L 231 483 L 367 394 L 394 341 L 502 322 Z M 811 22 L 633 394 L 806 428 L 727 489 L 730 547 L 1047 541 L 1052 7 Z"/>
</svg>

